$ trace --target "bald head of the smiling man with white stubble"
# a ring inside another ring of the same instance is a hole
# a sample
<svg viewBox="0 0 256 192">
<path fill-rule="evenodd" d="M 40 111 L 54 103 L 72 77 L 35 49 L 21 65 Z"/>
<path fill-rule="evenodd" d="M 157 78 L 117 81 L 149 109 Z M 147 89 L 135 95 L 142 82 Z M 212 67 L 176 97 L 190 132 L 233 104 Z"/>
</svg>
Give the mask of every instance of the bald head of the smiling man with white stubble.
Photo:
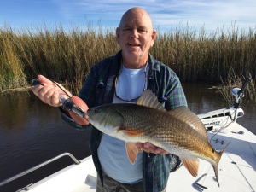
<svg viewBox="0 0 256 192">
<path fill-rule="evenodd" d="M 148 13 L 141 8 L 126 11 L 116 30 L 116 35 L 127 67 L 131 67 L 131 63 L 134 65 L 137 63 L 137 67 L 143 67 L 148 60 L 148 51 L 156 38 Z"/>
</svg>

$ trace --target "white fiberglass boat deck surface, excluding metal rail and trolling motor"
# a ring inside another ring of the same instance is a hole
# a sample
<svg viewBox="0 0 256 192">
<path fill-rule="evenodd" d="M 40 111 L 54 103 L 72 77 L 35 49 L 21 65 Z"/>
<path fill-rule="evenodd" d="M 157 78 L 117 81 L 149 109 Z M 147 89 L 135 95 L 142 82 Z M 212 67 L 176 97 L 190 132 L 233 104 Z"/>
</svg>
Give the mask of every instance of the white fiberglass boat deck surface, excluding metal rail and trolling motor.
<svg viewBox="0 0 256 192">
<path fill-rule="evenodd" d="M 220 187 L 215 181 L 212 166 L 200 160 L 198 177 L 192 177 L 184 166 L 170 173 L 167 191 L 201 191 L 203 188 L 199 189 L 195 183 L 203 185 L 209 192 L 256 191 L 256 136 L 236 122 L 229 127 L 214 137 L 214 132 L 208 133 L 213 148 L 222 149 L 230 143 L 218 166 Z M 243 134 L 238 134 L 239 131 Z M 68 166 L 29 187 L 32 192 L 95 190 L 96 170 L 91 156 L 81 160 L 79 165 Z"/>
</svg>

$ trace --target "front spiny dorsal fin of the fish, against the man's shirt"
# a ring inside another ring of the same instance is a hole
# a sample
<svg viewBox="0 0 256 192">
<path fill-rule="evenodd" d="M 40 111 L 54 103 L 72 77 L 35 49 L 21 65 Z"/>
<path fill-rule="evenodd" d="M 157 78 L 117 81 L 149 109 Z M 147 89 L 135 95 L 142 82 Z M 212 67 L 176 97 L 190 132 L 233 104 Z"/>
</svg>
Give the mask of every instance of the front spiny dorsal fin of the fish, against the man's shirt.
<svg viewBox="0 0 256 192">
<path fill-rule="evenodd" d="M 143 95 L 138 98 L 136 104 L 166 111 L 166 109 L 158 101 L 157 96 L 155 96 L 151 90 L 145 90 Z"/>
</svg>

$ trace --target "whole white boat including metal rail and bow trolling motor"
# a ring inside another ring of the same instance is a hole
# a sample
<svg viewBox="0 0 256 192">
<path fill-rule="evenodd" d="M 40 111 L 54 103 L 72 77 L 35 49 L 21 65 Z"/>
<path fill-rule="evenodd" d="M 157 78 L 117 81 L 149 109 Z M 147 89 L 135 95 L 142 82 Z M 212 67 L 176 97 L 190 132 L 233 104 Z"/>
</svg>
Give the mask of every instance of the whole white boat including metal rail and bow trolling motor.
<svg viewBox="0 0 256 192">
<path fill-rule="evenodd" d="M 232 108 L 222 108 L 209 113 L 199 114 L 203 124 L 206 126 L 208 138 L 213 148 L 221 150 L 227 143 L 228 148 L 219 162 L 218 183 L 212 166 L 205 160 L 200 160 L 197 177 L 192 177 L 184 166 L 180 166 L 175 172 L 170 173 L 167 191 L 189 192 L 253 192 L 256 191 L 256 136 L 245 127 L 236 123 L 237 118 L 243 116 L 243 110 L 239 107 L 239 100 L 243 96 L 243 90 L 235 88 L 232 90 L 235 96 L 235 105 Z M 254 127 L 256 128 L 256 127 Z M 45 177 L 38 183 L 32 183 L 19 191 L 45 192 L 90 192 L 96 190 L 96 169 L 91 156 L 84 160 L 76 160 L 72 154 L 61 154 L 51 160 L 21 172 L 15 177 L 10 177 L 0 183 L 0 186 L 9 183 L 17 177 L 48 164 L 63 155 L 70 155 L 75 163 L 67 166 L 49 177 Z"/>
</svg>

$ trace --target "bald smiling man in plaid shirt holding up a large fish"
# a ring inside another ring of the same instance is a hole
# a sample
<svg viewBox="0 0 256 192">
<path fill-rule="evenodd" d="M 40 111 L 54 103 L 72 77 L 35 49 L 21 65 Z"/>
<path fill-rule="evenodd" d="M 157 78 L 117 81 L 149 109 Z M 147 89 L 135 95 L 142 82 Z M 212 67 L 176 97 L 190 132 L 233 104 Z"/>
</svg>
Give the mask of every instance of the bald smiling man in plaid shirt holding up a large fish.
<svg viewBox="0 0 256 192">
<path fill-rule="evenodd" d="M 89 108 L 108 103 L 136 103 L 146 89 L 158 96 L 167 111 L 187 106 L 176 73 L 149 53 L 156 31 L 144 9 L 132 8 L 125 12 L 116 29 L 116 38 L 120 51 L 96 63 L 79 91 L 79 97 Z M 38 80 L 44 86 L 35 86 L 35 95 L 51 106 L 60 107 L 59 94 L 66 98 L 67 95 L 44 76 L 39 75 Z M 96 192 L 166 191 L 172 154 L 151 143 L 136 143 L 142 153 L 132 165 L 127 158 L 125 142 L 92 125 L 74 121 L 64 109 L 61 112 L 62 119 L 75 128 L 92 127 L 90 151 L 98 173 Z"/>
</svg>

